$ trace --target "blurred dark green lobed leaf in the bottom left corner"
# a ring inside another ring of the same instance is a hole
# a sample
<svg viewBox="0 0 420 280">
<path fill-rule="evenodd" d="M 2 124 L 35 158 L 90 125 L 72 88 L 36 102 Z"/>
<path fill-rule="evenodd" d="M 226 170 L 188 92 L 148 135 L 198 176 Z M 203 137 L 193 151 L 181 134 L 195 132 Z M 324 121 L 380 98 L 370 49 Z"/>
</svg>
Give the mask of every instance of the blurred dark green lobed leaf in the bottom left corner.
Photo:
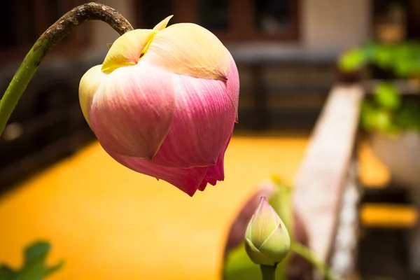
<svg viewBox="0 0 420 280">
<path fill-rule="evenodd" d="M 49 267 L 45 259 L 51 246 L 46 241 L 38 241 L 25 248 L 25 263 L 20 269 L 12 269 L 7 265 L 0 265 L 0 280 L 41 280 L 56 272 L 64 262 Z"/>
</svg>

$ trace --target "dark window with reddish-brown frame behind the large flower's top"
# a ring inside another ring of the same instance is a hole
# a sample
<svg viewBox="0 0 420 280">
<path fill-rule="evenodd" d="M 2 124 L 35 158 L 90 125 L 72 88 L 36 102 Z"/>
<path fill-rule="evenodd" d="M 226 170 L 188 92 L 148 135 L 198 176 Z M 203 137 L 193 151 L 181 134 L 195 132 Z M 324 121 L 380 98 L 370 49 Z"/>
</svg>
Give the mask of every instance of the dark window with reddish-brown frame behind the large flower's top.
<svg viewBox="0 0 420 280">
<path fill-rule="evenodd" d="M 134 0 L 138 28 L 153 28 L 167 15 L 170 23 L 195 22 L 221 41 L 299 38 L 300 0 Z"/>
</svg>

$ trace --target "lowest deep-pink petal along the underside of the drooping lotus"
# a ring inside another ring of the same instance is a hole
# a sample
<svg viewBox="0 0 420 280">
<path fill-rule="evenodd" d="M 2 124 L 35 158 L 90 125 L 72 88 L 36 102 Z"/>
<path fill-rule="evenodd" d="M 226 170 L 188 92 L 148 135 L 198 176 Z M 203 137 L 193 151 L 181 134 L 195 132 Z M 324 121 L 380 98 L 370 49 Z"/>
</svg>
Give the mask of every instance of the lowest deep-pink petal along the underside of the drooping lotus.
<svg viewBox="0 0 420 280">
<path fill-rule="evenodd" d="M 105 147 L 104 150 L 106 153 L 109 153 L 109 155 L 111 155 L 114 160 L 120 162 L 121 165 L 124 165 L 125 167 L 128 167 L 135 172 L 167 181 L 191 197 L 199 188 L 204 179 L 204 176 L 207 173 L 207 169 L 209 169 L 209 167 L 162 167 L 141 158 L 129 158 L 123 155 L 118 155 L 118 153 L 113 153 L 112 151 L 107 150 Z"/>
</svg>

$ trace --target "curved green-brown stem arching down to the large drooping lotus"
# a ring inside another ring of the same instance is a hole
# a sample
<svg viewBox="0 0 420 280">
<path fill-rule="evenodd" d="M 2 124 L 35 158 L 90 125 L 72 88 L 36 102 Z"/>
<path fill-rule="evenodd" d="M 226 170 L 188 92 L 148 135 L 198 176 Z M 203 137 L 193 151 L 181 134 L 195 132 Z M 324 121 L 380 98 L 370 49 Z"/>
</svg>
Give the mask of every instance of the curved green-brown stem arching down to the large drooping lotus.
<svg viewBox="0 0 420 280">
<path fill-rule="evenodd" d="M 133 29 L 123 15 L 100 3 L 85 3 L 63 15 L 38 38 L 3 94 L 0 100 L 0 136 L 42 59 L 70 31 L 87 20 L 102 20 L 120 35 Z"/>
</svg>

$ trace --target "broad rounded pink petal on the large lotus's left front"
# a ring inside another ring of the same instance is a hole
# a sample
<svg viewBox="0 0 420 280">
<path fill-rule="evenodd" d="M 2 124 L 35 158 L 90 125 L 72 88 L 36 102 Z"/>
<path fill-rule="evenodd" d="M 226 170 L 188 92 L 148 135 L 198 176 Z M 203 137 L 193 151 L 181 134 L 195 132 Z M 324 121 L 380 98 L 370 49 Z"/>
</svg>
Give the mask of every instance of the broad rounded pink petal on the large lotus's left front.
<svg viewBox="0 0 420 280">
<path fill-rule="evenodd" d="M 94 94 L 90 111 L 102 146 L 120 155 L 153 158 L 174 118 L 171 75 L 146 64 L 109 74 Z"/>
</svg>

